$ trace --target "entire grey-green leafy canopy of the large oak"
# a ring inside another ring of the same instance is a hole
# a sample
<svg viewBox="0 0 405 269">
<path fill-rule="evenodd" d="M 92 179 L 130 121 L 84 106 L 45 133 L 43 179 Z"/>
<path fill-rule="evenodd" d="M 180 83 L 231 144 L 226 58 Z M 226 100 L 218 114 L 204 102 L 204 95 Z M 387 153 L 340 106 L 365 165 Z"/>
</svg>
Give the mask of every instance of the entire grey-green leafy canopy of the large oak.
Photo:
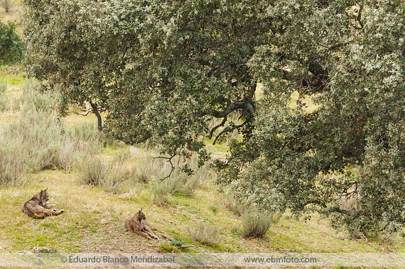
<svg viewBox="0 0 405 269">
<path fill-rule="evenodd" d="M 26 72 L 60 85 L 61 111 L 93 101 L 107 134 L 152 138 L 172 165 L 203 165 L 204 137 L 238 130 L 215 165 L 239 204 L 365 232 L 405 223 L 403 1 L 23 3 Z M 159 184 L 156 197 L 175 193 Z M 349 197 L 360 207 L 342 208 Z"/>
</svg>

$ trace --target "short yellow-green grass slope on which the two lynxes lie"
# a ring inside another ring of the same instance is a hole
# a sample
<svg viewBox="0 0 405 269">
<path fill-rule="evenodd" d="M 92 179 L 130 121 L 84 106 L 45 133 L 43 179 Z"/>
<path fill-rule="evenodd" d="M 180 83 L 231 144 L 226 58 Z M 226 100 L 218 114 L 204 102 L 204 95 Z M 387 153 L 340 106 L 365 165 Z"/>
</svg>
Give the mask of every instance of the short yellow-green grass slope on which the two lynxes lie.
<svg viewBox="0 0 405 269">
<path fill-rule="evenodd" d="M 0 82 L 8 87 L 21 87 L 22 75 L 2 72 Z M 8 92 L 9 95 L 16 94 Z M 0 114 L 0 124 L 9 122 L 13 113 Z M 92 118 L 68 116 L 67 125 Z M 106 148 L 104 154 L 114 154 L 119 149 Z M 223 145 L 212 147 L 221 153 Z M 141 149 L 133 150 L 135 154 Z M 137 156 L 132 159 L 136 162 Z M 403 239 L 393 236 L 389 242 L 349 239 L 344 233 L 336 233 L 328 225 L 328 220 L 313 216 L 311 221 L 290 219 L 285 214 L 279 223 L 272 225 L 263 239 L 247 239 L 240 235 L 240 217 L 224 209 L 221 195 L 216 187 L 208 184 L 197 190 L 194 197 L 174 197 L 168 207 L 158 207 L 149 198 L 149 186 L 131 199 L 120 198 L 95 187 L 81 185 L 77 174 L 47 170 L 27 176 L 30 180 L 25 187 L 0 189 L 2 204 L 0 219 L 0 251 L 14 252 L 29 250 L 34 246 L 57 248 L 70 252 L 103 251 L 145 251 L 170 250 L 170 240 L 181 239 L 195 244 L 189 251 L 197 252 L 381 252 L 404 251 Z M 49 188 L 51 202 L 57 209 L 64 209 L 60 216 L 34 220 L 23 214 L 21 208 L 39 189 Z M 219 206 L 216 212 L 210 205 Z M 158 240 L 148 241 L 125 231 L 124 221 L 143 207 Z M 192 242 L 187 231 L 198 221 L 216 225 L 221 231 L 219 244 L 198 244 Z"/>
</svg>

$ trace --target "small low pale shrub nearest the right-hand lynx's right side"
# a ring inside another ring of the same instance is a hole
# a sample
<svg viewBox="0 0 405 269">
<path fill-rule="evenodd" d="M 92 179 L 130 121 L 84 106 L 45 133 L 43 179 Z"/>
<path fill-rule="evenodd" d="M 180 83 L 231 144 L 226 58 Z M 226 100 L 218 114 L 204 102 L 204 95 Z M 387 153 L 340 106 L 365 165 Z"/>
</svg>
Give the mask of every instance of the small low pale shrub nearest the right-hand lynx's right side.
<svg viewBox="0 0 405 269">
<path fill-rule="evenodd" d="M 198 222 L 194 227 L 187 227 L 190 238 L 203 244 L 216 244 L 220 240 L 220 231 L 217 226 L 210 226 L 206 222 Z"/>
</svg>

